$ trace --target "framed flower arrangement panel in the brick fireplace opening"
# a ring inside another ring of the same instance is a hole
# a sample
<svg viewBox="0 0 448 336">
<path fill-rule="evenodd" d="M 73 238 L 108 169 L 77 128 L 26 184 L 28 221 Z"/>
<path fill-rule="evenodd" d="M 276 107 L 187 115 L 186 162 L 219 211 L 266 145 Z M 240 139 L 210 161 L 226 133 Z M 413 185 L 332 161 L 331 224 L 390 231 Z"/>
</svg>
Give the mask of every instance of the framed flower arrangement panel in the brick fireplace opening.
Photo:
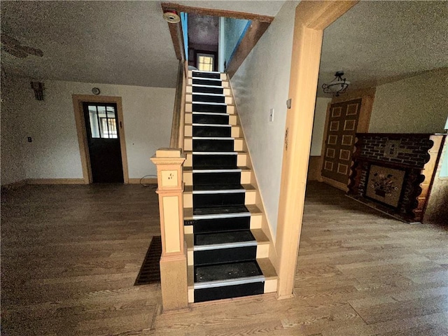
<svg viewBox="0 0 448 336">
<path fill-rule="evenodd" d="M 404 170 L 370 165 L 365 196 L 396 208 L 404 179 Z"/>
</svg>

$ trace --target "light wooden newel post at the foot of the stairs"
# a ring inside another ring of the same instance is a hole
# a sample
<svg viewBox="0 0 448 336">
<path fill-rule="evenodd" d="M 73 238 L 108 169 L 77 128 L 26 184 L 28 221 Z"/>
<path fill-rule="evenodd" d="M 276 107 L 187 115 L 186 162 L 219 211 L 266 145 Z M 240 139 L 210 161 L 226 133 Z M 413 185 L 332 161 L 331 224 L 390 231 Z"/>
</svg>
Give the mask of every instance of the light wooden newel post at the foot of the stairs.
<svg viewBox="0 0 448 336">
<path fill-rule="evenodd" d="M 163 309 L 188 307 L 187 248 L 183 237 L 181 149 L 160 148 L 151 161 L 157 166 L 162 256 L 160 280 Z"/>
</svg>

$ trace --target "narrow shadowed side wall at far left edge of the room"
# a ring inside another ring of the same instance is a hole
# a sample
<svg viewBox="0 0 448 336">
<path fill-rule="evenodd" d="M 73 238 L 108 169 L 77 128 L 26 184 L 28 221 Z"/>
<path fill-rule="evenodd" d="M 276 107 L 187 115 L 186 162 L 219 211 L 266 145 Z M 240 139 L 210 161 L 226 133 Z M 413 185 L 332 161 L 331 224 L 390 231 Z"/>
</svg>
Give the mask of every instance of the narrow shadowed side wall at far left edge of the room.
<svg viewBox="0 0 448 336">
<path fill-rule="evenodd" d="M 22 146 L 20 146 L 20 120 L 14 109 L 20 100 L 20 90 L 15 83 L 1 80 L 1 185 L 25 179 L 22 165 Z"/>
</svg>

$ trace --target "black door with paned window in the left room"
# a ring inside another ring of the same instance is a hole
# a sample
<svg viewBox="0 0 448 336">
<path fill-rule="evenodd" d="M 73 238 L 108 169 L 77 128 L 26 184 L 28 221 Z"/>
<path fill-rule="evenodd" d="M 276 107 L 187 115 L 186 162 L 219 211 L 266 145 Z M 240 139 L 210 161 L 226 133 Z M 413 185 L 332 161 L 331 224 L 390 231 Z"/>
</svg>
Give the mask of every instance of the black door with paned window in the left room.
<svg viewBox="0 0 448 336">
<path fill-rule="evenodd" d="M 116 104 L 83 103 L 93 183 L 123 183 Z"/>
</svg>

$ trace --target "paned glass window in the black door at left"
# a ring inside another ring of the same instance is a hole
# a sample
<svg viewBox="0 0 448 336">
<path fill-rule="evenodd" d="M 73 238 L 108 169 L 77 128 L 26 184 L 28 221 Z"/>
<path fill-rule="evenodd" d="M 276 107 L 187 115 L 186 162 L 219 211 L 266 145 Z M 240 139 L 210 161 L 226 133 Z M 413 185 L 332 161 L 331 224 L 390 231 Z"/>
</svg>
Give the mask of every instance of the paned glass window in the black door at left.
<svg viewBox="0 0 448 336">
<path fill-rule="evenodd" d="M 117 139 L 118 132 L 115 107 L 89 104 L 88 109 L 92 138 Z"/>
</svg>

